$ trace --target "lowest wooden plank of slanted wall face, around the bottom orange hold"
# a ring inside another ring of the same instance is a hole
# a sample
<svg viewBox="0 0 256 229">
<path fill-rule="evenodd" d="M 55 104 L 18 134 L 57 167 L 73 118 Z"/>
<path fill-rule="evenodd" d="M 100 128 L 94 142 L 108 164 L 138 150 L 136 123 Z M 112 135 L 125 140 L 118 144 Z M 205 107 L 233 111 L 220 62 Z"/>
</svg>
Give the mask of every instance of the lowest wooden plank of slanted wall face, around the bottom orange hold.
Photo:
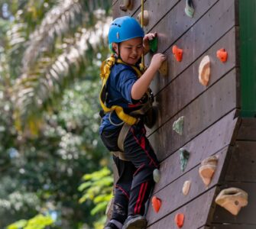
<svg viewBox="0 0 256 229">
<path fill-rule="evenodd" d="M 215 188 L 210 189 L 205 194 L 199 196 L 199 198 L 194 199 L 192 202 L 188 203 L 186 206 L 173 211 L 171 214 L 168 214 L 165 218 L 162 218 L 160 221 L 152 224 L 150 229 L 177 229 L 177 225 L 174 222 L 175 215 L 177 213 L 185 214 L 185 220 L 183 224 L 183 229 L 192 229 L 203 226 L 206 221 L 209 212 L 210 205 L 206 203 L 212 202 L 214 196 Z M 191 227 L 193 225 L 193 227 Z"/>
</svg>

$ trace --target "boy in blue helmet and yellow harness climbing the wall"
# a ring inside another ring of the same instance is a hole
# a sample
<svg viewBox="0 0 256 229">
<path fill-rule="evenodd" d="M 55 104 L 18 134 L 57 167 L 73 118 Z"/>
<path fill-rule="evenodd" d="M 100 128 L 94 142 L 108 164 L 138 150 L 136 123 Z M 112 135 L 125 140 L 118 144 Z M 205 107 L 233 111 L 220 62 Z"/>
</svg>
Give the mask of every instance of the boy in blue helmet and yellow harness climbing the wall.
<svg viewBox="0 0 256 229">
<path fill-rule="evenodd" d="M 116 153 L 113 156 L 119 178 L 115 185 L 112 219 L 105 229 L 145 228 L 147 225 L 144 205 L 154 186 L 153 171 L 158 162 L 145 136 L 141 110 L 148 104 L 148 87 L 166 58 L 162 53 L 155 54 L 144 73 L 138 64 L 155 35 L 144 36 L 138 21 L 128 16 L 116 18 L 109 28 L 109 45 L 115 54 L 102 63 L 100 101 L 105 114 L 99 132 L 105 147 L 113 152 L 121 150 L 125 157 Z M 139 114 L 135 115 L 136 112 Z M 125 134 L 121 134 L 124 127 Z"/>
</svg>

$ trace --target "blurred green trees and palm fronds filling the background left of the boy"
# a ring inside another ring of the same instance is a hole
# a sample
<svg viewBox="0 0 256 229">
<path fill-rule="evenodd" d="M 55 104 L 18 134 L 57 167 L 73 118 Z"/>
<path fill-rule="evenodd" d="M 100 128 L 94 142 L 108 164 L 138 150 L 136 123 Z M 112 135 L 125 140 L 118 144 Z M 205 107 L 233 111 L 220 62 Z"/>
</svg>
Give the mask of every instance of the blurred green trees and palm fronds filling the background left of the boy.
<svg viewBox="0 0 256 229">
<path fill-rule="evenodd" d="M 98 96 L 111 2 L 0 0 L 0 228 L 105 221 Z"/>
</svg>

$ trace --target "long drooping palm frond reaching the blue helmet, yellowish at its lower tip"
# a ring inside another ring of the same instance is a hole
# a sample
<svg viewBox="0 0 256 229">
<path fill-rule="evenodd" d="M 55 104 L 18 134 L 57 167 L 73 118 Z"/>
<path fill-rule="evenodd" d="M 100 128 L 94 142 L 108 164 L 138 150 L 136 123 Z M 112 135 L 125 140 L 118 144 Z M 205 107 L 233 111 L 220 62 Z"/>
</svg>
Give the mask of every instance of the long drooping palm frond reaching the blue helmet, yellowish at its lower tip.
<svg viewBox="0 0 256 229">
<path fill-rule="evenodd" d="M 106 34 L 110 18 L 99 21 L 94 28 L 83 28 L 79 40 L 66 47 L 54 60 L 41 58 L 33 71 L 25 73 L 13 88 L 16 127 L 36 134 L 44 110 L 53 108 L 63 92 L 75 78 L 83 76 L 92 63 L 91 53 L 106 47 Z"/>
</svg>

